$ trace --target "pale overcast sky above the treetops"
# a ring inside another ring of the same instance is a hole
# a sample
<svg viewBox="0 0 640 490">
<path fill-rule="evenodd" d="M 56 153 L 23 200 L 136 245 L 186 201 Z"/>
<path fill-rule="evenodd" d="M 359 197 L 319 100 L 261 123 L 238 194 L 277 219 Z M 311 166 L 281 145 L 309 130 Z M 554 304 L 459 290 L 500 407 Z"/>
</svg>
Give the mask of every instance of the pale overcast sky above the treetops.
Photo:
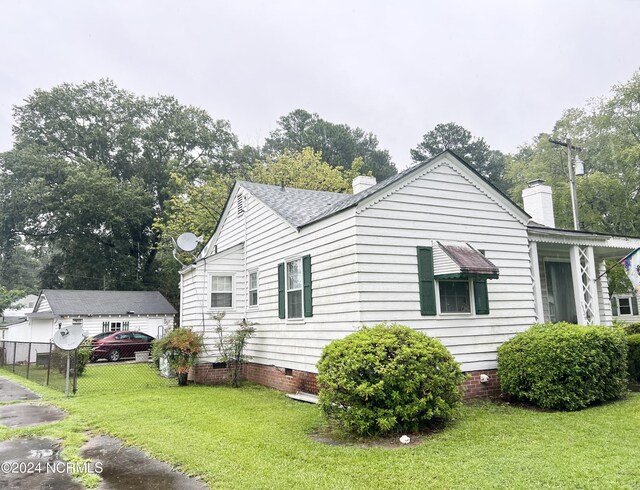
<svg viewBox="0 0 640 490">
<path fill-rule="evenodd" d="M 515 151 L 640 68 L 640 1 L 0 0 L 0 151 L 36 88 L 111 78 L 262 143 L 296 108 L 399 168 L 438 123 Z"/>
</svg>

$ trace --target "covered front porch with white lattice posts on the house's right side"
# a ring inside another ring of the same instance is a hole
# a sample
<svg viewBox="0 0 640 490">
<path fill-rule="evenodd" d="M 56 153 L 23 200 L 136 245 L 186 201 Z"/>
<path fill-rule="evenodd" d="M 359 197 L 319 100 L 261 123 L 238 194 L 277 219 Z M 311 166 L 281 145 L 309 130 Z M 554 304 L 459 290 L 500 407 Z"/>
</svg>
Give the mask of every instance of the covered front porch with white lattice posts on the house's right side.
<svg viewBox="0 0 640 490">
<path fill-rule="evenodd" d="M 638 246 L 637 238 L 530 226 L 537 321 L 611 325 L 605 259 L 619 260 Z"/>
</svg>

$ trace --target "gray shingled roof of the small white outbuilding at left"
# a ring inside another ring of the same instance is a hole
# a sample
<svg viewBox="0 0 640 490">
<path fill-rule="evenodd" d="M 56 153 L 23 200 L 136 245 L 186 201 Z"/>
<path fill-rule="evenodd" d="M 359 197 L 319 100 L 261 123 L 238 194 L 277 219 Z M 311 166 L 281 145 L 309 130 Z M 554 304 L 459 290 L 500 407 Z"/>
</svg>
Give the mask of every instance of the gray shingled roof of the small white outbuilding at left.
<svg viewBox="0 0 640 490">
<path fill-rule="evenodd" d="M 176 310 L 159 291 L 77 291 L 44 289 L 57 315 L 173 315 Z"/>
</svg>

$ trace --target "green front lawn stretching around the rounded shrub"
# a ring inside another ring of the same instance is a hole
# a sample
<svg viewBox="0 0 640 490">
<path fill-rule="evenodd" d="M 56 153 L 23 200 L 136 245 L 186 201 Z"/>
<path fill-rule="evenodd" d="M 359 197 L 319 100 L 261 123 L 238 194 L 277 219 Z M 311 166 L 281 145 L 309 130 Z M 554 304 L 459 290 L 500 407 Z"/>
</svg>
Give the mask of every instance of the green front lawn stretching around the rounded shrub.
<svg viewBox="0 0 640 490">
<path fill-rule="evenodd" d="M 313 441 L 309 433 L 323 423 L 318 408 L 259 386 L 65 399 L 24 384 L 70 416 L 45 428 L 0 429 L 0 438 L 50 433 L 68 441 L 73 457 L 85 429 L 108 433 L 213 488 L 640 487 L 640 393 L 573 413 L 466 405 L 418 446 L 364 449 Z"/>
</svg>

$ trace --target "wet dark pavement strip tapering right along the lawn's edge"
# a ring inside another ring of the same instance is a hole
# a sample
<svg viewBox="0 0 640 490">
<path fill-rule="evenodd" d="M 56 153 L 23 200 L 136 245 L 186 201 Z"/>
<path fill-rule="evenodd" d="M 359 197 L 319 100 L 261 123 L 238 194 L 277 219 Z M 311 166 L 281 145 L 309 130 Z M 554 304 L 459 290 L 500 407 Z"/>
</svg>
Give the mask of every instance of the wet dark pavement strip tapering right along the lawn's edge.
<svg viewBox="0 0 640 490">
<path fill-rule="evenodd" d="M 195 478 L 178 473 L 142 451 L 122 445 L 108 436 L 91 439 L 80 455 L 102 467 L 100 490 L 203 490 L 208 487 Z"/>
</svg>

